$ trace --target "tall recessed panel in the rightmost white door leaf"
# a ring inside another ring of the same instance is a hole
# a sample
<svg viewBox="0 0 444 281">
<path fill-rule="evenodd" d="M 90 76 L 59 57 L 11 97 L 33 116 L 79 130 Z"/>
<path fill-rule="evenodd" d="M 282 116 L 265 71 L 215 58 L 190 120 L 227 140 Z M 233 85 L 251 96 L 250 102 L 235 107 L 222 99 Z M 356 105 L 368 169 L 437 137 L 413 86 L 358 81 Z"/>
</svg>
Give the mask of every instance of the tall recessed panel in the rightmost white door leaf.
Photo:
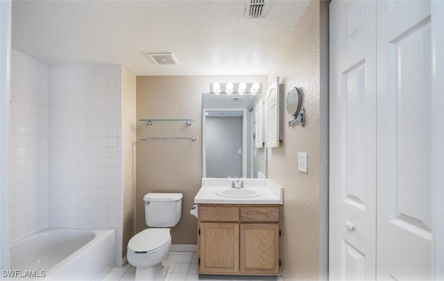
<svg viewBox="0 0 444 281">
<path fill-rule="evenodd" d="M 392 194 L 389 203 L 393 210 L 391 221 L 431 235 L 430 212 L 423 207 L 430 206 L 432 180 L 432 49 L 429 20 L 420 23 L 420 26 L 413 26 L 416 30 L 407 31 L 400 40 L 389 45 L 388 61 L 396 61 L 396 64 L 389 67 L 394 74 L 388 79 L 388 85 L 395 85 L 395 90 L 389 93 L 395 114 L 391 115 L 388 123 L 395 130 L 389 132 L 388 142 L 395 144 L 396 149 L 392 149 L 388 157 L 391 158 L 389 173 L 395 173 L 389 184 Z M 429 120 L 411 118 L 411 112 L 423 112 L 426 118 L 429 116 Z M 415 134 L 411 134 L 411 128 L 415 128 Z"/>
</svg>

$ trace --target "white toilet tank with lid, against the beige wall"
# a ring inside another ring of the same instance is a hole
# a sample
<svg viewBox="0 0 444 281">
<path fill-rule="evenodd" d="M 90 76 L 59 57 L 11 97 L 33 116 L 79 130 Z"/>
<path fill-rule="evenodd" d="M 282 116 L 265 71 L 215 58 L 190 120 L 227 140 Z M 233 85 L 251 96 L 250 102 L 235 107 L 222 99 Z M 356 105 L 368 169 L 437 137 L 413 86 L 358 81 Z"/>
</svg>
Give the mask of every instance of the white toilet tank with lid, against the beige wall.
<svg viewBox="0 0 444 281">
<path fill-rule="evenodd" d="M 171 228 L 182 216 L 181 193 L 148 193 L 144 196 L 145 222 L 151 228 Z"/>
</svg>

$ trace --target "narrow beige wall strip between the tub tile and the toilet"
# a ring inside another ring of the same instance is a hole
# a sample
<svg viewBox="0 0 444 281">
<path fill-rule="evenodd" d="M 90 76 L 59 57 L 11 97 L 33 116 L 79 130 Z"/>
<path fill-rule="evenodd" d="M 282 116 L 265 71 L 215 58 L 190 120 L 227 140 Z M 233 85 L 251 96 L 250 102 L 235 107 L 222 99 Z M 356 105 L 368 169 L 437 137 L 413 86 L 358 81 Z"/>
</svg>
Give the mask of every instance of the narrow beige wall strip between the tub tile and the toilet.
<svg viewBox="0 0 444 281">
<path fill-rule="evenodd" d="M 122 170 L 123 170 L 123 241 L 126 246 L 135 235 L 136 198 L 136 76 L 122 67 Z"/>
</svg>

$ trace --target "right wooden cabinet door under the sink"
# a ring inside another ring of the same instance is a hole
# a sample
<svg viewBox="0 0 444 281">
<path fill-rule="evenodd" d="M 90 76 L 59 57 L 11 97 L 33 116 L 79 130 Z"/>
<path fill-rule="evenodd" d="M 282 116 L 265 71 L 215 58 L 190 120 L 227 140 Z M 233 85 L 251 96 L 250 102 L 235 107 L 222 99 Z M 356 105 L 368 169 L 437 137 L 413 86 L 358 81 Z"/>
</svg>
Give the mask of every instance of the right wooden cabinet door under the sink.
<svg viewBox="0 0 444 281">
<path fill-rule="evenodd" d="M 279 273 L 279 223 L 241 223 L 241 273 Z"/>
</svg>

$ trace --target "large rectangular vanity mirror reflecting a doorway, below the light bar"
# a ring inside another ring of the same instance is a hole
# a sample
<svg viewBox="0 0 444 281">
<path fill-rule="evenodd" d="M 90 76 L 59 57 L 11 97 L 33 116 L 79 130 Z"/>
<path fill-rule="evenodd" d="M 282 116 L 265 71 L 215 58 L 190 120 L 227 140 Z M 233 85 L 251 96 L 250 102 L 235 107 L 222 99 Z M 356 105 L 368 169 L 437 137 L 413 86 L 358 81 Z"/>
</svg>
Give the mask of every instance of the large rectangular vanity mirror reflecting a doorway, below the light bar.
<svg viewBox="0 0 444 281">
<path fill-rule="evenodd" d="M 254 104 L 250 94 L 203 94 L 203 178 L 265 177 L 264 148 L 255 148 Z"/>
</svg>

